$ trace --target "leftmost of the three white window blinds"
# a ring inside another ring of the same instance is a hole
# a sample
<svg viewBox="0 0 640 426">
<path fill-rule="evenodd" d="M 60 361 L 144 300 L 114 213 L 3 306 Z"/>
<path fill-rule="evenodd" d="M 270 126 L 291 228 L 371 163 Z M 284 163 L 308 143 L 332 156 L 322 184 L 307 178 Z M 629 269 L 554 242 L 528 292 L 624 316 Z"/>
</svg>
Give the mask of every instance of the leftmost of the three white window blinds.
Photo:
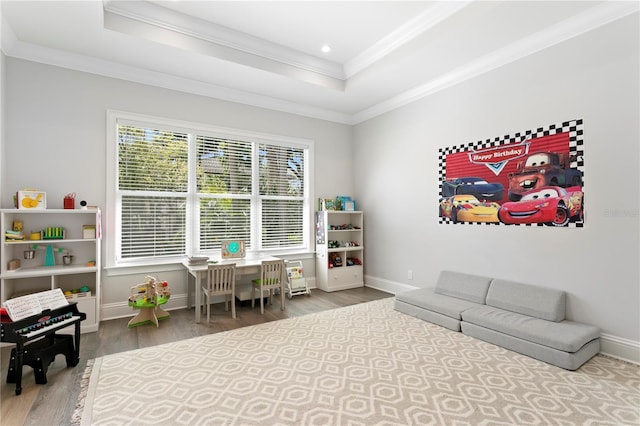
<svg viewBox="0 0 640 426">
<path fill-rule="evenodd" d="M 184 254 L 188 135 L 118 127 L 120 258 Z"/>
</svg>

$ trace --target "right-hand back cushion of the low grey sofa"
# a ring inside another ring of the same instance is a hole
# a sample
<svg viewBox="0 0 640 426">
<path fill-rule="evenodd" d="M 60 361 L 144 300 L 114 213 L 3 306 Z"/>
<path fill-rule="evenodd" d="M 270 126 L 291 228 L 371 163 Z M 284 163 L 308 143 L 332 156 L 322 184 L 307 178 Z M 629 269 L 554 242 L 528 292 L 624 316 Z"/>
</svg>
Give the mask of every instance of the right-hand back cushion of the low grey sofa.
<svg viewBox="0 0 640 426">
<path fill-rule="evenodd" d="M 548 321 L 562 321 L 566 294 L 561 290 L 494 279 L 487 293 L 487 305 Z"/>
</svg>

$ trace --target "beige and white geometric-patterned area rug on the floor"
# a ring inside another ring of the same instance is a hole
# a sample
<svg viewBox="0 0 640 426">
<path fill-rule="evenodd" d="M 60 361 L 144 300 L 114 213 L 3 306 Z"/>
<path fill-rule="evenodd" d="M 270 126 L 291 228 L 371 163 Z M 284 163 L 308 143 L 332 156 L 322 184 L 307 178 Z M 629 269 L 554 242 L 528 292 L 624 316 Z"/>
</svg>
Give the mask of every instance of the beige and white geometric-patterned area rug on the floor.
<svg viewBox="0 0 640 426">
<path fill-rule="evenodd" d="M 566 371 L 383 299 L 98 358 L 86 425 L 638 425 L 640 367 Z M 79 413 L 80 414 L 80 413 Z"/>
</svg>

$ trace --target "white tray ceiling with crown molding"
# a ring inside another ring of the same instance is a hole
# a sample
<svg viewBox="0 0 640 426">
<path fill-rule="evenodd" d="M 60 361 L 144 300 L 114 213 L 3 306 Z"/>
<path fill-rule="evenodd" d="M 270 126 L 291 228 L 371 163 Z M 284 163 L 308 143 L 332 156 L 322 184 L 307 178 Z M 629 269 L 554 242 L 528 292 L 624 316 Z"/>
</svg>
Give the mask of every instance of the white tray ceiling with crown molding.
<svg viewBox="0 0 640 426">
<path fill-rule="evenodd" d="M 637 1 L 13 1 L 22 58 L 355 124 L 638 11 Z M 323 53 L 323 44 L 332 50 Z"/>
</svg>

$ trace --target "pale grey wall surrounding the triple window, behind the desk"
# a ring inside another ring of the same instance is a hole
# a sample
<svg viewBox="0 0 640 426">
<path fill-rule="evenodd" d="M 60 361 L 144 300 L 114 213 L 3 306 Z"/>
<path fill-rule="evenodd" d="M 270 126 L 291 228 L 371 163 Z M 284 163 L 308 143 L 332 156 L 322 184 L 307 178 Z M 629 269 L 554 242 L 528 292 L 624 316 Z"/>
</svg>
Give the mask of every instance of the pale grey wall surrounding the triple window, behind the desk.
<svg viewBox="0 0 640 426">
<path fill-rule="evenodd" d="M 351 156 L 343 155 L 351 151 L 350 126 L 14 58 L 6 58 L 5 65 L 6 157 L 0 200 L 4 208 L 12 207 L 12 194 L 25 187 L 45 191 L 49 208 L 62 208 L 68 192 L 109 208 L 105 205 L 107 109 L 313 140 L 316 196 L 353 192 Z M 109 226 L 103 221 L 103 227 Z M 104 240 L 102 248 L 104 258 Z M 305 262 L 305 268 L 313 276 L 313 259 Z M 142 282 L 145 273 L 169 281 L 174 295 L 170 303 L 184 304 L 184 271 L 159 271 L 104 274 L 103 305 L 112 311 L 120 305 L 131 312 L 126 308 L 129 287 Z"/>
</svg>

